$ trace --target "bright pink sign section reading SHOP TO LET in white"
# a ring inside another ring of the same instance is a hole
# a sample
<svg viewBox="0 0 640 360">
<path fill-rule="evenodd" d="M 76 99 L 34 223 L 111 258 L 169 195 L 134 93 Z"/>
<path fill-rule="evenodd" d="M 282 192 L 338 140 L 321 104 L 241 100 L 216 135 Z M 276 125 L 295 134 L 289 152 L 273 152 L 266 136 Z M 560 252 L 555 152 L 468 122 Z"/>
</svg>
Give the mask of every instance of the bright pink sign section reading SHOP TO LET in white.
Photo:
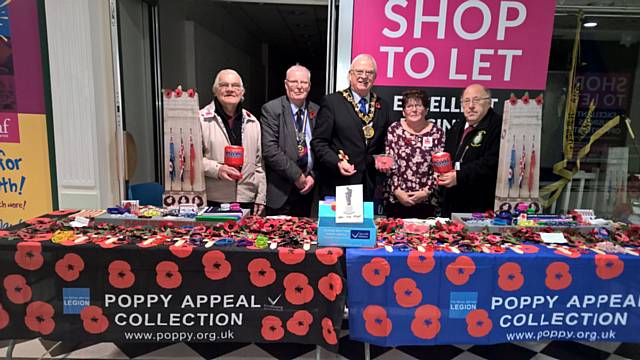
<svg viewBox="0 0 640 360">
<path fill-rule="evenodd" d="M 353 0 L 352 56 L 373 55 L 377 85 L 546 86 L 555 1 Z"/>
</svg>

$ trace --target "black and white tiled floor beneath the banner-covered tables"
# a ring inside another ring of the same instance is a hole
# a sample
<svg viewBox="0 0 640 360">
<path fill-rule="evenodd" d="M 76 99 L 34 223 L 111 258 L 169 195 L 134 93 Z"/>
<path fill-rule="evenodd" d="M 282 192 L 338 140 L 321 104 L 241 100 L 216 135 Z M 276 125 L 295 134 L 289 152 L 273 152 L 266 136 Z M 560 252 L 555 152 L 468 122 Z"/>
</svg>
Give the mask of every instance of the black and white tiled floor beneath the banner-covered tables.
<svg viewBox="0 0 640 360">
<path fill-rule="evenodd" d="M 7 355 L 8 341 L 0 341 L 0 356 Z M 55 348 L 54 348 L 55 346 Z M 44 359 L 316 359 L 316 348 L 299 344 L 146 344 L 98 343 L 70 344 L 44 340 L 16 341 L 13 359 L 38 359 L 50 349 Z M 340 339 L 338 354 L 319 350 L 321 359 L 364 359 L 362 343 Z M 398 348 L 370 347 L 370 356 L 378 360 L 456 359 L 456 360 L 519 360 L 519 359 L 640 359 L 640 344 L 577 343 L 510 343 L 498 345 L 403 346 Z"/>
</svg>

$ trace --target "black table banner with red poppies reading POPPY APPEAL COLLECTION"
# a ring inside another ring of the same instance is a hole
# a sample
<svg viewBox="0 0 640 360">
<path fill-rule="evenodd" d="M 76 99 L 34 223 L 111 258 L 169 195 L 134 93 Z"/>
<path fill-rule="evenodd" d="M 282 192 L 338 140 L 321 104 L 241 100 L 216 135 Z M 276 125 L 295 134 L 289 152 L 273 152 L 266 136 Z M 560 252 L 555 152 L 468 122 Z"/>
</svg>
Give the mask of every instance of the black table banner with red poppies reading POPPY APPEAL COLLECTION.
<svg viewBox="0 0 640 360">
<path fill-rule="evenodd" d="M 337 350 L 346 298 L 340 248 L 65 246 L 50 238 L 0 238 L 2 339 Z"/>
</svg>

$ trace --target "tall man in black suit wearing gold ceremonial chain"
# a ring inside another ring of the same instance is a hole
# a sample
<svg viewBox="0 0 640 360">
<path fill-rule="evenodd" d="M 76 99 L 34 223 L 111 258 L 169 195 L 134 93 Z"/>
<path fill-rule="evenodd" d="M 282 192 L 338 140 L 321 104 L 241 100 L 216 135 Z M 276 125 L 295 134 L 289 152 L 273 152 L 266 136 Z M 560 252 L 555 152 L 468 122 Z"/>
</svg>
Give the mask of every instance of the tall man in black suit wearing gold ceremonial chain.
<svg viewBox="0 0 640 360">
<path fill-rule="evenodd" d="M 338 185 L 363 184 L 364 200 L 371 201 L 377 172 L 390 170 L 373 157 L 384 153 L 391 121 L 389 104 L 371 91 L 375 80 L 375 60 L 360 54 L 349 68 L 349 88 L 322 100 L 311 140 L 321 198 L 335 195 Z"/>
</svg>

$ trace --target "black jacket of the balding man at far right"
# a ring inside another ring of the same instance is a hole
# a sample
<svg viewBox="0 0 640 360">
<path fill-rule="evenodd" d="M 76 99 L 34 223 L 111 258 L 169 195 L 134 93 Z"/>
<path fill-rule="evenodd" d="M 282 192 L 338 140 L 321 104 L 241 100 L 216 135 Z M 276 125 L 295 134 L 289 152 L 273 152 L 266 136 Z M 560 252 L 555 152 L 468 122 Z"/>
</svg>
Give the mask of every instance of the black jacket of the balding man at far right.
<svg viewBox="0 0 640 360">
<path fill-rule="evenodd" d="M 442 215 L 446 217 L 453 212 L 494 210 L 502 115 L 490 108 L 460 144 L 465 124 L 466 121 L 456 122 L 447 131 L 444 144 L 453 164 L 460 162 L 457 185 L 442 188 Z"/>
</svg>

